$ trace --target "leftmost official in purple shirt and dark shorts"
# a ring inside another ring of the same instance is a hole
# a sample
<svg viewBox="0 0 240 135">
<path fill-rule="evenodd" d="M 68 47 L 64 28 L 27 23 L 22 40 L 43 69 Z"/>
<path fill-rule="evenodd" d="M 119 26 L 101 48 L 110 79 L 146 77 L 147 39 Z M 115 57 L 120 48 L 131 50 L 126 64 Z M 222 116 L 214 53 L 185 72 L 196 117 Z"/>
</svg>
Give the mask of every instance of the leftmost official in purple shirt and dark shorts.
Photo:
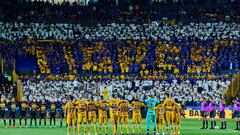
<svg viewBox="0 0 240 135">
<path fill-rule="evenodd" d="M 202 98 L 202 103 L 201 103 L 201 116 L 202 116 L 202 128 L 201 129 L 207 129 L 208 128 L 208 104 L 206 102 L 206 98 Z M 206 126 L 205 126 L 206 125 Z"/>
</svg>

